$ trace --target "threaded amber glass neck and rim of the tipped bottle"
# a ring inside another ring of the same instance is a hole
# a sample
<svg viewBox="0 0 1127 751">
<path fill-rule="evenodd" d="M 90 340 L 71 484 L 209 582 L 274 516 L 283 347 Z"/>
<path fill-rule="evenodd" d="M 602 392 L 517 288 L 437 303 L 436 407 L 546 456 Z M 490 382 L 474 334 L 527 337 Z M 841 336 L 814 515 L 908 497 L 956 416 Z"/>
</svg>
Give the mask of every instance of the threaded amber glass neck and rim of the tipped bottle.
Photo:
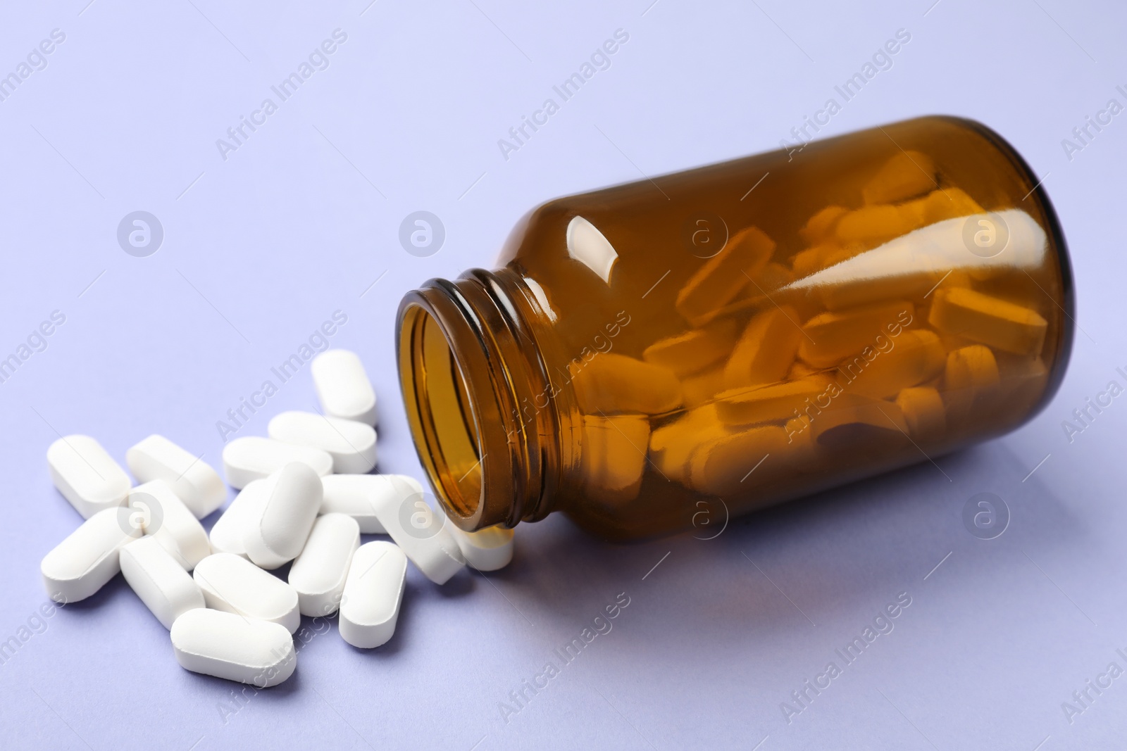
<svg viewBox="0 0 1127 751">
<path fill-rule="evenodd" d="M 512 269 L 431 279 L 399 306 L 396 351 L 415 447 L 462 529 L 547 516 L 561 415 L 534 334 L 543 314 Z"/>
</svg>

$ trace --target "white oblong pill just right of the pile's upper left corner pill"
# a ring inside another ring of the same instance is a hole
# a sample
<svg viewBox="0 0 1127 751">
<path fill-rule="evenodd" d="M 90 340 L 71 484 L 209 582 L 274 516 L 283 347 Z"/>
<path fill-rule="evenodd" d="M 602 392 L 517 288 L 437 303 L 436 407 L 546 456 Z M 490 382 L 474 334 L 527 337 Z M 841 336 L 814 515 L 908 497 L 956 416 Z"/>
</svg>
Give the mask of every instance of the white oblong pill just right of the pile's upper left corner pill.
<svg viewBox="0 0 1127 751">
<path fill-rule="evenodd" d="M 125 452 L 125 463 L 140 483 L 163 480 L 197 519 L 223 506 L 227 488 L 219 473 L 163 436 L 153 433 Z"/>
</svg>

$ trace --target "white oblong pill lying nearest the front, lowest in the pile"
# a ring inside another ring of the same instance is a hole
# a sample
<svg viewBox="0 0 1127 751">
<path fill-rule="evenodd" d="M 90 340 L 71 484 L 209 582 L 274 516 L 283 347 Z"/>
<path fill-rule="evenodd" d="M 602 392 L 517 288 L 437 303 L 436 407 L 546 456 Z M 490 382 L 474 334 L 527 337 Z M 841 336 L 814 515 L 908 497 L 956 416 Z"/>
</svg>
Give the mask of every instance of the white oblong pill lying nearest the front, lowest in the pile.
<svg viewBox="0 0 1127 751">
<path fill-rule="evenodd" d="M 205 676 L 267 688 L 298 667 L 293 637 L 265 620 L 201 608 L 177 618 L 170 636 L 180 667 Z"/>
</svg>

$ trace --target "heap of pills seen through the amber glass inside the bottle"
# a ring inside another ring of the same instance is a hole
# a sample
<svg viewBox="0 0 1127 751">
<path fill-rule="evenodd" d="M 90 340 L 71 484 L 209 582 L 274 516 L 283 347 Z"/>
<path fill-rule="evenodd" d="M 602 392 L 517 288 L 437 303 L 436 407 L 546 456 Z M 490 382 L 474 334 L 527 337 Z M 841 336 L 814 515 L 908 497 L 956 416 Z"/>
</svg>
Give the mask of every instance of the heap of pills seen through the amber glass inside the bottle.
<svg viewBox="0 0 1127 751">
<path fill-rule="evenodd" d="M 602 513 L 787 497 L 872 457 L 946 450 L 1037 403 L 1056 357 L 1035 280 L 1044 229 L 1021 208 L 987 212 L 921 152 L 859 177 L 835 186 L 844 205 L 777 238 L 731 226 L 676 292 L 677 320 L 630 330 L 640 357 L 568 365 L 584 491 Z"/>
</svg>

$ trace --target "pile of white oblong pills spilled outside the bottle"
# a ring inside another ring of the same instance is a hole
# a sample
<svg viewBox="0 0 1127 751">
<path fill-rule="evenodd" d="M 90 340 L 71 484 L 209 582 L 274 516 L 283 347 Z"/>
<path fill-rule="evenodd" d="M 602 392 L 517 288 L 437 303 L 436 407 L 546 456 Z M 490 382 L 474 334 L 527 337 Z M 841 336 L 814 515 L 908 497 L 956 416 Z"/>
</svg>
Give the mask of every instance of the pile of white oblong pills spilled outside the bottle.
<svg viewBox="0 0 1127 751">
<path fill-rule="evenodd" d="M 366 474 L 376 464 L 376 400 L 354 352 L 325 351 L 311 372 L 323 414 L 283 412 L 269 438 L 224 447 L 223 472 L 239 493 L 210 535 L 199 519 L 227 488 L 199 457 L 149 436 L 125 454 L 134 486 L 94 438 L 54 441 L 51 479 L 86 521 L 43 558 L 51 599 L 88 598 L 119 571 L 169 629 L 181 667 L 265 688 L 293 674 L 302 616 L 338 613 L 347 643 L 387 643 L 408 561 L 436 584 L 465 565 L 509 563 L 512 529 L 462 531 L 415 479 Z M 391 542 L 361 544 L 362 534 Z M 291 562 L 285 580 L 270 573 Z"/>
</svg>

